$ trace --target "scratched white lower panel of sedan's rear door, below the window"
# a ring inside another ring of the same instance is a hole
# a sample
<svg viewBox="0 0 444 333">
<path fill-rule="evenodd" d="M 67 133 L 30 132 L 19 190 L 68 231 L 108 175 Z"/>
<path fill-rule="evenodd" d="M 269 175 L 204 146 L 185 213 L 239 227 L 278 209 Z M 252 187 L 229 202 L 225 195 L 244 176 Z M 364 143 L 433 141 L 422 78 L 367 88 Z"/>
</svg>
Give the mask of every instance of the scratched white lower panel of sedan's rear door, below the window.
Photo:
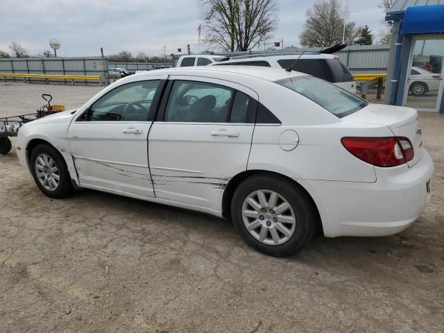
<svg viewBox="0 0 444 333">
<path fill-rule="evenodd" d="M 221 210 L 228 180 L 246 170 L 253 124 L 155 122 L 148 140 L 157 198 Z M 237 137 L 212 135 L 227 130 Z"/>
</svg>

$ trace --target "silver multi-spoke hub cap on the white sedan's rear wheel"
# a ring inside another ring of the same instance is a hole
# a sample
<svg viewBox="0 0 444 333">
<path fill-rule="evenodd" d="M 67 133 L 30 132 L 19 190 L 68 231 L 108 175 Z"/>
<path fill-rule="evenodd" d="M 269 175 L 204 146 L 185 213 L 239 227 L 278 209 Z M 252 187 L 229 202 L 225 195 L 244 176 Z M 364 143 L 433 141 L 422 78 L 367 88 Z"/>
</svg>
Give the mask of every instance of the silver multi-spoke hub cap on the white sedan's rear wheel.
<svg viewBox="0 0 444 333">
<path fill-rule="evenodd" d="M 266 189 L 246 197 L 242 220 L 248 232 L 267 245 L 284 244 L 296 230 L 296 215 L 288 200 Z"/>
</svg>

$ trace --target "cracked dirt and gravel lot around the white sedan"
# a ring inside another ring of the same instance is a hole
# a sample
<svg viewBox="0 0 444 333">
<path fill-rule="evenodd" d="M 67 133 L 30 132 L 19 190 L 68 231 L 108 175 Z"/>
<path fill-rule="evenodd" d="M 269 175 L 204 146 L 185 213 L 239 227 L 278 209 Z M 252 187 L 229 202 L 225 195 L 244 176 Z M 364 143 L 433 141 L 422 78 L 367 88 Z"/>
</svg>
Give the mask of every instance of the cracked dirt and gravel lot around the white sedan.
<svg viewBox="0 0 444 333">
<path fill-rule="evenodd" d="M 99 89 L 0 83 L 0 114 Z M 444 332 L 444 117 L 420 121 L 436 167 L 420 219 L 284 259 L 214 217 L 96 191 L 51 200 L 0 155 L 0 331 Z"/>
</svg>

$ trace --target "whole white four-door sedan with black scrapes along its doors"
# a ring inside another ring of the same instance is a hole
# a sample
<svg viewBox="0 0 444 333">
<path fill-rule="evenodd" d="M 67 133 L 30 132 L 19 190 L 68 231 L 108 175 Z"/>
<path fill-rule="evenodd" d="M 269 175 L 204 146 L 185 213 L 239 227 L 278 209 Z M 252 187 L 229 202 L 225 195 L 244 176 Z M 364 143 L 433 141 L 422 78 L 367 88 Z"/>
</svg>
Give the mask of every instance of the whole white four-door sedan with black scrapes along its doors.
<svg viewBox="0 0 444 333">
<path fill-rule="evenodd" d="M 52 198 L 89 188 L 224 216 L 269 255 L 315 230 L 384 236 L 425 209 L 434 170 L 411 108 L 267 67 L 123 78 L 26 123 L 17 155 Z"/>
</svg>

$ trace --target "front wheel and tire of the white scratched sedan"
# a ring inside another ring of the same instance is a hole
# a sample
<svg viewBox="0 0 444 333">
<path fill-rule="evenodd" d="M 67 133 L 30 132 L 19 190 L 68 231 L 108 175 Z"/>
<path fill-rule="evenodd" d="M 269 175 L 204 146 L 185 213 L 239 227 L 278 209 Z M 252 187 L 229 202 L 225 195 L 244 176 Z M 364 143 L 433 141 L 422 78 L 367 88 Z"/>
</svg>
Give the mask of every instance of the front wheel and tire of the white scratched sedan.
<svg viewBox="0 0 444 333">
<path fill-rule="evenodd" d="M 71 194 L 71 177 L 62 155 L 49 144 L 39 144 L 31 152 L 31 173 L 37 187 L 51 198 Z"/>
</svg>

